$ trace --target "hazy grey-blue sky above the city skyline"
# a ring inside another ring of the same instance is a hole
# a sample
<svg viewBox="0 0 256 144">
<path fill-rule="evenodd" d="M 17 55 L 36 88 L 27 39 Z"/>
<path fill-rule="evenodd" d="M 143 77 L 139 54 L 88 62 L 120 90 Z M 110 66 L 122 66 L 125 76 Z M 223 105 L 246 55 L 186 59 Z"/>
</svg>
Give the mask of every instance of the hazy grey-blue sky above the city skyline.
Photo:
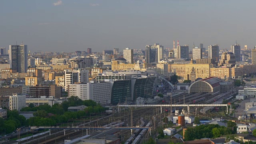
<svg viewBox="0 0 256 144">
<path fill-rule="evenodd" d="M 3 0 L 0 47 L 102 52 L 145 49 L 173 40 L 192 49 L 200 43 L 256 45 L 256 0 Z M 177 46 L 177 43 L 176 43 Z"/>
</svg>

